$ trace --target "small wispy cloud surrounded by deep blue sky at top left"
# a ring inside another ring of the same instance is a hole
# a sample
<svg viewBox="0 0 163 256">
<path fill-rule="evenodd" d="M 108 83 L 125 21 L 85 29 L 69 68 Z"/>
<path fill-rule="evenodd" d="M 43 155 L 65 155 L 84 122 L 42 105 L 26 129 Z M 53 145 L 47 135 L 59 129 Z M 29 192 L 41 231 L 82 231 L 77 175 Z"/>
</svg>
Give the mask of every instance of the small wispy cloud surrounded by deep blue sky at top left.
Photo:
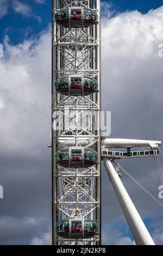
<svg viewBox="0 0 163 256">
<path fill-rule="evenodd" d="M 32 8 L 22 3 L 19 0 L 14 0 L 12 2 L 12 8 L 14 9 L 15 14 L 21 14 L 23 17 L 34 17 L 37 21 L 41 22 L 41 17 L 33 14 Z"/>
</svg>

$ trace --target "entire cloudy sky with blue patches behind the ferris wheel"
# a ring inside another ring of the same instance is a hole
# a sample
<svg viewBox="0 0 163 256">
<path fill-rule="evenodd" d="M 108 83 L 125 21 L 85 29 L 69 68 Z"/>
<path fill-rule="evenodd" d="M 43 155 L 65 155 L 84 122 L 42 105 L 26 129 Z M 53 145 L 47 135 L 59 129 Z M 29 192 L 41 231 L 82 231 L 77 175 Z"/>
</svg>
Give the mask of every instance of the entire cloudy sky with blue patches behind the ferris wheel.
<svg viewBox="0 0 163 256">
<path fill-rule="evenodd" d="M 163 141 L 161 4 L 101 2 L 102 108 L 111 111 L 112 138 Z M 51 1 L 0 0 L 0 22 L 0 244 L 50 245 Z M 121 164 L 158 199 L 153 159 Z M 125 175 L 123 184 L 155 243 L 163 244 L 163 210 Z M 102 224 L 104 245 L 134 245 L 104 168 Z"/>
</svg>

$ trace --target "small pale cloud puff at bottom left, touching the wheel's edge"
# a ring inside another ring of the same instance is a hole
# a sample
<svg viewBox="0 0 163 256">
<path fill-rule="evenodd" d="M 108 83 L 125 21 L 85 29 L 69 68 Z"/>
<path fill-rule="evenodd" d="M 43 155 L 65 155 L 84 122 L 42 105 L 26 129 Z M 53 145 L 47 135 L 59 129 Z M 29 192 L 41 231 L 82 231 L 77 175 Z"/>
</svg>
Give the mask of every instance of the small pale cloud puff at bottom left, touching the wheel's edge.
<svg viewBox="0 0 163 256">
<path fill-rule="evenodd" d="M 52 245 L 52 231 L 43 233 L 40 237 L 34 237 L 29 245 Z"/>
</svg>

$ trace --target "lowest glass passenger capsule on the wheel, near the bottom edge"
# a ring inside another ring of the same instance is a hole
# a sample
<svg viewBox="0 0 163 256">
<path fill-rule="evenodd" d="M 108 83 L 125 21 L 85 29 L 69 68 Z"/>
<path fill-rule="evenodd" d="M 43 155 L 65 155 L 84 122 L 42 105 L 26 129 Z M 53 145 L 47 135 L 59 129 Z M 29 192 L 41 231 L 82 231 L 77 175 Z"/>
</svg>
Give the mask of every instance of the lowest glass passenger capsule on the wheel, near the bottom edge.
<svg viewBox="0 0 163 256">
<path fill-rule="evenodd" d="M 74 217 L 59 221 L 55 225 L 57 234 L 66 239 L 89 238 L 97 234 L 96 221 Z"/>
</svg>

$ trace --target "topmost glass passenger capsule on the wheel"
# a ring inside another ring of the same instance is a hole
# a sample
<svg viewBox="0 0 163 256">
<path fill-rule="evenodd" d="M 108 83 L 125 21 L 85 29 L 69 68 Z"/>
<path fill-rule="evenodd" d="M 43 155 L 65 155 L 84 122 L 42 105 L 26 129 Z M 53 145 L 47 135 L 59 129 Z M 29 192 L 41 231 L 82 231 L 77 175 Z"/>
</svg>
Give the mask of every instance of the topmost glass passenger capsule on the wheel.
<svg viewBox="0 0 163 256">
<path fill-rule="evenodd" d="M 55 14 L 58 25 L 67 28 L 89 27 L 98 23 L 97 11 L 86 7 L 65 7 Z"/>
</svg>

